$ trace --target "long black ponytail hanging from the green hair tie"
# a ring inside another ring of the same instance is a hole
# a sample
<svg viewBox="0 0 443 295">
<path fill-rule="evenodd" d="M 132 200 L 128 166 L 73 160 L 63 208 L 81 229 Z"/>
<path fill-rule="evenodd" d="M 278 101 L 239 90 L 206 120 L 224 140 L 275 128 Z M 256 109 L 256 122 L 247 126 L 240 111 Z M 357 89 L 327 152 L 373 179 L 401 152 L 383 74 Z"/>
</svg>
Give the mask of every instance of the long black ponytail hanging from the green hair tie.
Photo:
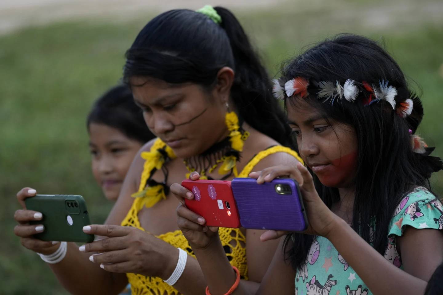
<svg viewBox="0 0 443 295">
<path fill-rule="evenodd" d="M 272 96 L 268 73 L 248 36 L 228 9 L 214 9 L 221 16 L 220 26 L 228 35 L 231 45 L 235 64 L 235 79 L 231 92 L 241 117 L 261 133 L 281 144 L 291 145 L 291 130 L 285 122 L 283 111 Z"/>
</svg>

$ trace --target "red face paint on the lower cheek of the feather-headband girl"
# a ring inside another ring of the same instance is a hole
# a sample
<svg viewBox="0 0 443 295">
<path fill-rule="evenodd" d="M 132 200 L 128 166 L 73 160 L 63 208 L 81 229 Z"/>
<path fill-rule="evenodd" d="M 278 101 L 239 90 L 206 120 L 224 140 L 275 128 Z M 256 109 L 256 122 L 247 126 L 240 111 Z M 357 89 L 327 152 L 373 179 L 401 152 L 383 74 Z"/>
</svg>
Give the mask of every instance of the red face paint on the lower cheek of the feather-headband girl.
<svg viewBox="0 0 443 295">
<path fill-rule="evenodd" d="M 320 182 L 331 188 L 342 188 L 354 179 L 357 169 L 357 151 L 331 161 L 323 169 L 315 171 Z"/>
</svg>

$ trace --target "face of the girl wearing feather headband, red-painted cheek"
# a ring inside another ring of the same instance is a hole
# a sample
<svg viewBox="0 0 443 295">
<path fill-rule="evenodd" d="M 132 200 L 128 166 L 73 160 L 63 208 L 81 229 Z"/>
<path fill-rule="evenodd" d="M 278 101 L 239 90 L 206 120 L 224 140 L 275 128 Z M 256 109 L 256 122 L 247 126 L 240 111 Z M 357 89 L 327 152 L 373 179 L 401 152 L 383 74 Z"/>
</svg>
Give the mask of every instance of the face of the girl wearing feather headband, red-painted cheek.
<svg viewBox="0 0 443 295">
<path fill-rule="evenodd" d="M 357 171 L 357 136 L 353 126 L 325 119 L 300 98 L 287 101 L 288 123 L 299 153 L 320 182 L 333 188 L 354 185 Z"/>
</svg>

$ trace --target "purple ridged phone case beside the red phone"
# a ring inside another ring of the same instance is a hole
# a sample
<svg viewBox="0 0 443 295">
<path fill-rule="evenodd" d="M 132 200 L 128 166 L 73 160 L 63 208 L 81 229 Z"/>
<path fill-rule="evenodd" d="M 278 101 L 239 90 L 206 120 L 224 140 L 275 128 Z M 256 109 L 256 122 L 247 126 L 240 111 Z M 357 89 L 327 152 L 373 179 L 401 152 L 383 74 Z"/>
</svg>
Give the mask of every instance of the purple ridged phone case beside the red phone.
<svg viewBox="0 0 443 295">
<path fill-rule="evenodd" d="M 277 194 L 276 184 L 288 184 L 292 194 Z M 279 178 L 257 184 L 252 178 L 234 178 L 231 186 L 241 226 L 260 230 L 306 230 L 307 218 L 295 180 Z"/>
</svg>

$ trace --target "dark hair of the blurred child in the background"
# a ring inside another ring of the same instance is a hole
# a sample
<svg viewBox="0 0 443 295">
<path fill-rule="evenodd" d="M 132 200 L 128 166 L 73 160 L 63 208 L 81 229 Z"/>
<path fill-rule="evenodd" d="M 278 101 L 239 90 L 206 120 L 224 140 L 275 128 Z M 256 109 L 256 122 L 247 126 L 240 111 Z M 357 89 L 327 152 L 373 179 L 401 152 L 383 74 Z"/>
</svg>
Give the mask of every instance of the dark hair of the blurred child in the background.
<svg viewBox="0 0 443 295">
<path fill-rule="evenodd" d="M 144 122 L 140 107 L 134 103 L 131 90 L 124 84 L 109 89 L 97 99 L 86 119 L 88 131 L 91 123 L 116 128 L 142 144 L 155 137 Z"/>
</svg>

